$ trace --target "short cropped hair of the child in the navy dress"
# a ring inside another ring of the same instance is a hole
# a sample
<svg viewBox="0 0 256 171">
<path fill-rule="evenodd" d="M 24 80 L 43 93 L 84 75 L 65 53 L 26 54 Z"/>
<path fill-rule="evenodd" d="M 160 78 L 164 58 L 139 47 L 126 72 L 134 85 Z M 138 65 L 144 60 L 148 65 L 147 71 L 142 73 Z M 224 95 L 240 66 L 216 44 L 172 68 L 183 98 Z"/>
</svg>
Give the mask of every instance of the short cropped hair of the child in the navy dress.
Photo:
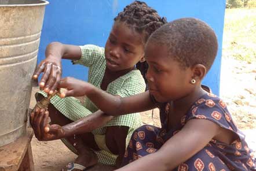
<svg viewBox="0 0 256 171">
<path fill-rule="evenodd" d="M 207 71 L 217 55 L 218 41 L 213 29 L 196 18 L 180 18 L 164 24 L 148 42 L 166 46 L 169 57 L 181 67 L 202 64 Z"/>
</svg>

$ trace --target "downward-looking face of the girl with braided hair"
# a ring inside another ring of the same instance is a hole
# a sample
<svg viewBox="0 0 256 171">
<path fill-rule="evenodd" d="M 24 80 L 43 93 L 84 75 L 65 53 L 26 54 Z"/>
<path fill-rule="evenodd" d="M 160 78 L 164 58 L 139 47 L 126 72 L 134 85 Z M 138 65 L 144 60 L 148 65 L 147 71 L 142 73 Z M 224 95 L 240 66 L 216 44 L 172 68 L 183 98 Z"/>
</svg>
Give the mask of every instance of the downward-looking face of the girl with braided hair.
<svg viewBox="0 0 256 171">
<path fill-rule="evenodd" d="M 107 68 L 112 71 L 131 70 L 142 58 L 142 36 L 125 23 L 116 22 L 105 44 Z"/>
</svg>

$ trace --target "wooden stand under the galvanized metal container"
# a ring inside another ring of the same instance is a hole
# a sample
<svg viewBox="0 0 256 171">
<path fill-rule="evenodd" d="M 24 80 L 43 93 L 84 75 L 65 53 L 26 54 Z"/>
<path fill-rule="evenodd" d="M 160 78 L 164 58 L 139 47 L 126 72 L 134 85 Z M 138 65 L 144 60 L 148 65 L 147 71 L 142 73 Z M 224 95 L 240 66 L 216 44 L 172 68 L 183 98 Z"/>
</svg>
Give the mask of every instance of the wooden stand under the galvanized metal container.
<svg viewBox="0 0 256 171">
<path fill-rule="evenodd" d="M 27 128 L 24 136 L 17 139 L 15 142 L 0 147 L 0 171 L 18 170 L 34 132 L 31 128 Z M 31 148 L 31 147 L 30 147 Z M 32 154 L 31 154 L 32 155 Z"/>
</svg>

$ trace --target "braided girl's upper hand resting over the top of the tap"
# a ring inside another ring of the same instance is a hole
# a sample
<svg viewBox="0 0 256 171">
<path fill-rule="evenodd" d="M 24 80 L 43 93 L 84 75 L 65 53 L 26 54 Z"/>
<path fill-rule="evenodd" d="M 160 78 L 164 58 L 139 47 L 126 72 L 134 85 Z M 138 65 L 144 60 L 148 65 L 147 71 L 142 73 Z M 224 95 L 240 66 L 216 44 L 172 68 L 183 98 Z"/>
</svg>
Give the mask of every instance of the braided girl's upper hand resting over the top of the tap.
<svg viewBox="0 0 256 171">
<path fill-rule="evenodd" d="M 38 68 L 33 75 L 33 79 L 37 79 L 42 72 L 43 76 L 39 83 L 39 87 L 45 92 L 52 94 L 60 83 L 61 61 L 55 57 L 47 57 L 38 65 Z"/>
</svg>

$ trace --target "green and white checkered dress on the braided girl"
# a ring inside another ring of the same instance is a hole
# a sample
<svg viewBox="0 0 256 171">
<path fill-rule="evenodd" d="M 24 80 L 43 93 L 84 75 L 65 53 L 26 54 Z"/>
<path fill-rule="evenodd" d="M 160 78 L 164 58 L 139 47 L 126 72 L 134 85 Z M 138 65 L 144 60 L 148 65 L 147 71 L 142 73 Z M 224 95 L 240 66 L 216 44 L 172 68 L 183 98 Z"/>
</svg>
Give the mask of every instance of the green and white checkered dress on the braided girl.
<svg viewBox="0 0 256 171">
<path fill-rule="evenodd" d="M 104 55 L 104 48 L 95 45 L 80 46 L 82 50 L 82 57 L 74 64 L 81 64 L 89 67 L 88 82 L 100 88 L 101 82 L 106 68 L 106 61 Z M 139 94 L 145 91 L 145 81 L 140 73 L 140 70 L 131 70 L 126 75 L 120 76 L 118 79 L 108 84 L 107 91 L 112 95 L 119 95 L 121 97 Z M 46 95 L 44 92 L 40 92 Z M 54 96 L 51 103 L 59 110 L 65 117 L 72 121 L 79 120 L 82 117 L 88 116 L 98 110 L 90 99 L 85 98 L 82 104 L 74 97 L 67 97 L 64 99 Z M 108 121 L 103 127 L 93 130 L 94 135 L 104 135 L 107 127 L 111 126 L 126 126 L 129 127 L 128 135 L 126 137 L 126 145 L 129 143 L 133 131 L 141 126 L 141 117 L 139 113 L 132 113 L 123 116 L 114 117 Z M 63 139 L 65 145 L 76 153 L 75 148 Z M 115 165 L 117 155 L 110 154 L 105 150 L 95 151 L 98 157 L 98 162 L 105 165 Z M 77 154 L 77 153 L 76 153 Z"/>
</svg>

